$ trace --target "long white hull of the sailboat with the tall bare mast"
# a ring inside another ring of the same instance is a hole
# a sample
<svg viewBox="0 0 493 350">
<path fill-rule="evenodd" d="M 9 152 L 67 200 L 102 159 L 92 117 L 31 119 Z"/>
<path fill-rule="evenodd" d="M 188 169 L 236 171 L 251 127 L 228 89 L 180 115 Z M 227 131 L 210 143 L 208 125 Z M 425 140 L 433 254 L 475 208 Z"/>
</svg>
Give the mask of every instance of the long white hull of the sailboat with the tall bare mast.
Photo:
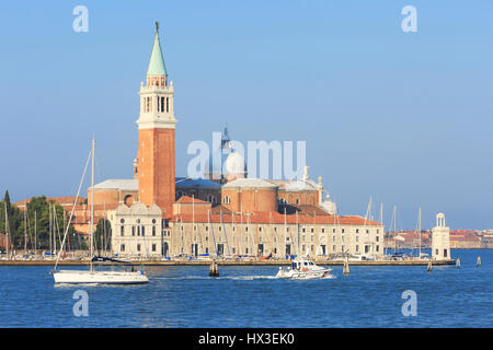
<svg viewBox="0 0 493 350">
<path fill-rule="evenodd" d="M 68 284 L 145 284 L 149 279 L 141 271 L 76 271 L 53 273 L 55 283 Z"/>
</svg>

